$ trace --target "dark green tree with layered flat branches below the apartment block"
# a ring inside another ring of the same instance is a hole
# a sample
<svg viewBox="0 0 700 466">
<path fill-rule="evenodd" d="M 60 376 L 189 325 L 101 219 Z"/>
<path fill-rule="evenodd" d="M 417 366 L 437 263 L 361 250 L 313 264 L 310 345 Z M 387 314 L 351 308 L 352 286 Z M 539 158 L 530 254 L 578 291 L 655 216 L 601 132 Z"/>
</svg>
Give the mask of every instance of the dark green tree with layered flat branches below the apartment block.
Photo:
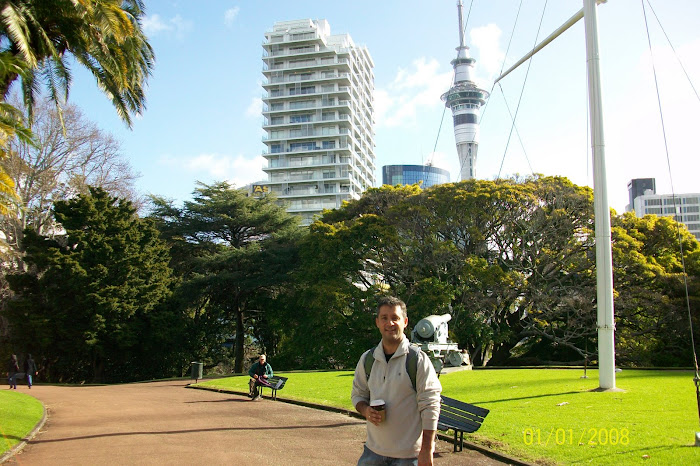
<svg viewBox="0 0 700 466">
<path fill-rule="evenodd" d="M 155 198 L 153 218 L 171 245 L 192 331 L 210 338 L 193 356 L 235 336 L 234 370 L 242 372 L 251 327 L 266 319 L 264 303 L 294 270 L 297 218 L 274 197 L 250 197 L 226 182 L 200 183 L 182 208 Z"/>
</svg>

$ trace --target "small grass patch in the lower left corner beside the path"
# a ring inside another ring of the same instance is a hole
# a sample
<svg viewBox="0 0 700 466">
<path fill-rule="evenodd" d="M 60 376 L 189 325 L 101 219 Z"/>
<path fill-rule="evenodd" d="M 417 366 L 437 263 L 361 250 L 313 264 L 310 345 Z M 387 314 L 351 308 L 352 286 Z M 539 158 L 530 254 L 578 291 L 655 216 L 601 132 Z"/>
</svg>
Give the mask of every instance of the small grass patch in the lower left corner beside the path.
<svg viewBox="0 0 700 466">
<path fill-rule="evenodd" d="M 0 456 L 17 445 L 44 414 L 41 402 L 16 390 L 0 390 Z"/>
</svg>

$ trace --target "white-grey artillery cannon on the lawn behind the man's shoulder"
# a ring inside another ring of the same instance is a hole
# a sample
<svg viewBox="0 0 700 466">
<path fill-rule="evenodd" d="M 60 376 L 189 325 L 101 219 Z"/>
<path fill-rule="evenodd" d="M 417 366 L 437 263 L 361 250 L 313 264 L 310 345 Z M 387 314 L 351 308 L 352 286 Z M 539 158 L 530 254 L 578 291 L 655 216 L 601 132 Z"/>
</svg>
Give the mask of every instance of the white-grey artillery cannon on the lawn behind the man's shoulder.
<svg viewBox="0 0 700 466">
<path fill-rule="evenodd" d="M 432 315 L 421 319 L 411 331 L 411 343 L 420 346 L 421 350 L 430 357 L 438 374 L 443 366 L 459 367 L 466 363 L 470 365 L 469 354 L 462 352 L 457 343 L 448 341 L 447 322 L 452 319 L 449 314 Z"/>
</svg>

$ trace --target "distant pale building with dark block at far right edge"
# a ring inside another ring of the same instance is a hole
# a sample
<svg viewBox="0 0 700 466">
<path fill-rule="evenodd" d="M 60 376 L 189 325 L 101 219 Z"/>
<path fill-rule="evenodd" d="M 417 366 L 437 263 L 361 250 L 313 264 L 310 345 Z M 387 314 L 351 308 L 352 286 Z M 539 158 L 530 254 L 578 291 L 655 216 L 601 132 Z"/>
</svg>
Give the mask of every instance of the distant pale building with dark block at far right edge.
<svg viewBox="0 0 700 466">
<path fill-rule="evenodd" d="M 634 212 L 637 217 L 673 217 L 700 239 L 700 193 L 656 194 L 654 178 L 634 179 L 627 183 L 627 189 L 631 199 L 627 212 Z"/>
</svg>

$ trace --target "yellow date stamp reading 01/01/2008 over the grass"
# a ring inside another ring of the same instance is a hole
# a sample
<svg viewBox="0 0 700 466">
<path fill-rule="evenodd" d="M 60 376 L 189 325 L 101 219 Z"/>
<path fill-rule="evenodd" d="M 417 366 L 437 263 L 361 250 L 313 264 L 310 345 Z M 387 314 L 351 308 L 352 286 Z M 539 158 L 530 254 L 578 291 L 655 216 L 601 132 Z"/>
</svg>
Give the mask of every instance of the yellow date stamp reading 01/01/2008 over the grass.
<svg viewBox="0 0 700 466">
<path fill-rule="evenodd" d="M 554 445 L 629 445 L 630 432 L 627 428 L 618 429 L 588 428 L 588 429 L 555 429 L 549 430 L 527 428 L 523 431 L 523 443 L 528 446 Z"/>
</svg>

